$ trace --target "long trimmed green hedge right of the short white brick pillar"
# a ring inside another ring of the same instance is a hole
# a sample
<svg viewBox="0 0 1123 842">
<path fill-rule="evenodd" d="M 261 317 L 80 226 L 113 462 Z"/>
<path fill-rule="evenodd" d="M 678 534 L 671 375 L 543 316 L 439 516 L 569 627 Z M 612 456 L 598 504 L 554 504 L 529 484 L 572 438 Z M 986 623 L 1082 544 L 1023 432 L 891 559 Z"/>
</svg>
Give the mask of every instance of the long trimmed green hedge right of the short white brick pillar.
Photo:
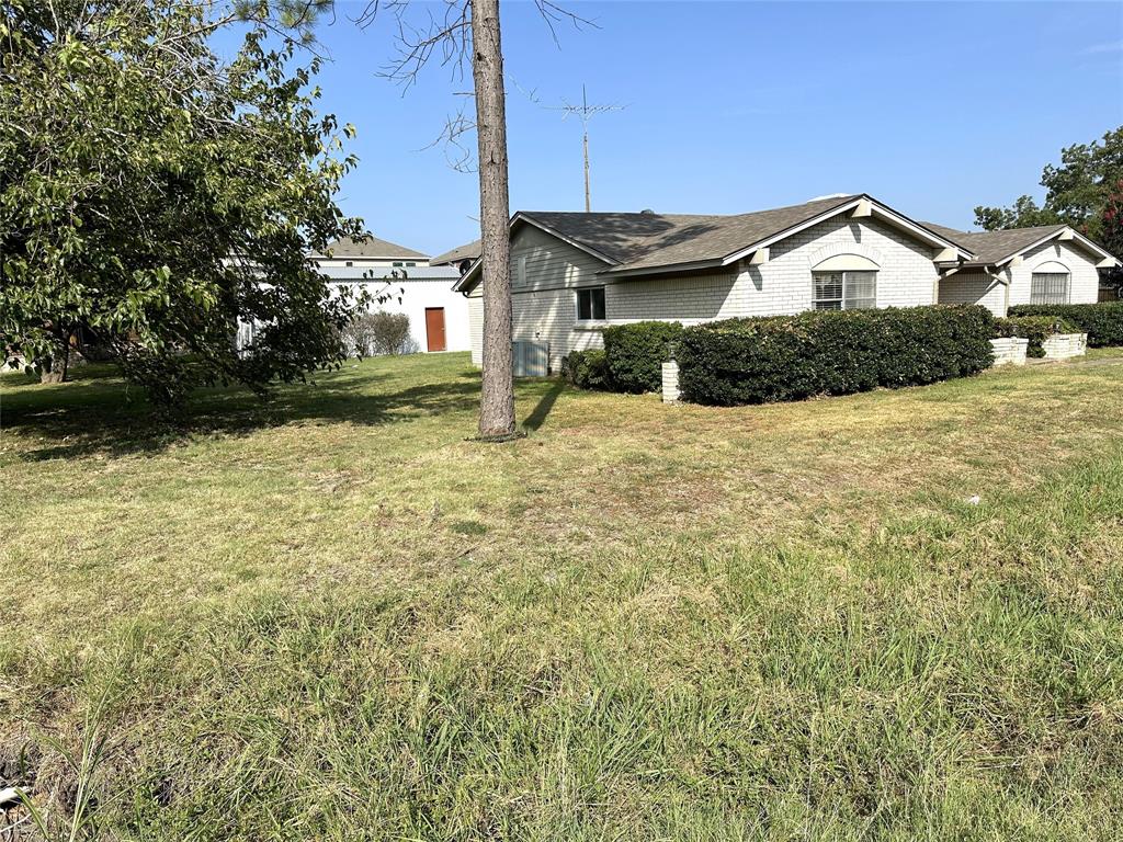
<svg viewBox="0 0 1123 842">
<path fill-rule="evenodd" d="M 987 368 L 993 331 L 977 304 L 712 322 L 683 331 L 679 387 L 729 406 L 934 383 Z"/>
</svg>

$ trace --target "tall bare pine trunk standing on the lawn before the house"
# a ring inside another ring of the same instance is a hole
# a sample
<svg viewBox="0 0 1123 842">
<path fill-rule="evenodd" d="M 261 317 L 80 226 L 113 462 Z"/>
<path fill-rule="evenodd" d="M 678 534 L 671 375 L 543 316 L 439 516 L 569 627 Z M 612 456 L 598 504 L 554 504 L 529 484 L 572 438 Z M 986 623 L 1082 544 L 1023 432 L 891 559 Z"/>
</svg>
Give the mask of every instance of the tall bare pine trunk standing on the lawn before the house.
<svg viewBox="0 0 1123 842">
<path fill-rule="evenodd" d="M 480 436 L 514 433 L 511 349 L 511 241 L 506 173 L 506 107 L 499 0 L 472 0 L 472 75 L 480 141 L 480 231 L 483 256 L 483 394 Z"/>
</svg>

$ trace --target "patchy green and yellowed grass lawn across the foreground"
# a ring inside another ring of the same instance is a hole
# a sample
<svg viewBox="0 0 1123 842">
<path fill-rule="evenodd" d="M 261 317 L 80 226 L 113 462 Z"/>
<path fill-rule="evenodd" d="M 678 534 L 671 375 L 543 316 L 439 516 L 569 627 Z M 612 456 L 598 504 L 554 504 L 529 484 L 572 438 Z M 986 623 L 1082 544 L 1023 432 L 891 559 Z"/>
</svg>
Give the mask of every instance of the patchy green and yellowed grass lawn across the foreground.
<svg viewBox="0 0 1123 842">
<path fill-rule="evenodd" d="M 88 779 L 110 839 L 1123 836 L 1120 351 L 526 382 L 503 446 L 463 355 L 175 428 L 84 374 L 0 381 L 0 786 L 56 818 Z"/>
</svg>

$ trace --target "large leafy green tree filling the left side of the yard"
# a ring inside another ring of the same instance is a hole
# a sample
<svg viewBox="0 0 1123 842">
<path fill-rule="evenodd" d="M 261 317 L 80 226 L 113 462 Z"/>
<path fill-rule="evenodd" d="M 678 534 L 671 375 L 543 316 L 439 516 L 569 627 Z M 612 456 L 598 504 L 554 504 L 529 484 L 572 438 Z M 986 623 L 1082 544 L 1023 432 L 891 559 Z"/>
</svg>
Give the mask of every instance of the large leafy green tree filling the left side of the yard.
<svg viewBox="0 0 1123 842">
<path fill-rule="evenodd" d="M 299 3 L 285 22 L 301 24 Z M 316 3 L 307 4 L 309 12 Z M 349 295 L 309 264 L 362 235 L 335 204 L 351 132 L 263 3 L 8 0 L 0 12 L 0 342 L 65 374 L 95 336 L 163 405 L 341 359 Z M 221 60 L 211 35 L 244 21 Z M 282 37 L 271 38 L 270 35 Z M 277 44 L 270 47 L 270 44 Z M 248 353 L 234 347 L 254 322 Z"/>
</svg>

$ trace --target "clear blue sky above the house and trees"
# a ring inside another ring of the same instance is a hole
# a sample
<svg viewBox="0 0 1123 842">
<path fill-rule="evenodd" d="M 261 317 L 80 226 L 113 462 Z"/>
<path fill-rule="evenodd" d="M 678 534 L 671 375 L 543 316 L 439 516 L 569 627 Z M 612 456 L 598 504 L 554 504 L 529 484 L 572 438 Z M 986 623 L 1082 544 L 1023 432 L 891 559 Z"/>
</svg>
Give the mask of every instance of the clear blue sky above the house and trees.
<svg viewBox="0 0 1123 842">
<path fill-rule="evenodd" d="M 435 63 L 409 90 L 380 79 L 392 19 L 360 30 L 347 19 L 360 4 L 337 6 L 318 30 L 320 104 L 356 126 L 360 159 L 341 207 L 432 254 L 474 239 L 475 175 L 426 148 L 471 108 L 457 95 L 471 74 Z M 865 191 L 966 228 L 976 204 L 1040 196 L 1062 146 L 1123 125 L 1123 3 L 567 8 L 599 28 L 560 26 L 557 46 L 531 2 L 503 2 L 512 211 L 582 209 L 581 125 L 547 108 L 582 83 L 591 102 L 627 106 L 591 123 L 594 210 L 737 213 Z"/>
</svg>

